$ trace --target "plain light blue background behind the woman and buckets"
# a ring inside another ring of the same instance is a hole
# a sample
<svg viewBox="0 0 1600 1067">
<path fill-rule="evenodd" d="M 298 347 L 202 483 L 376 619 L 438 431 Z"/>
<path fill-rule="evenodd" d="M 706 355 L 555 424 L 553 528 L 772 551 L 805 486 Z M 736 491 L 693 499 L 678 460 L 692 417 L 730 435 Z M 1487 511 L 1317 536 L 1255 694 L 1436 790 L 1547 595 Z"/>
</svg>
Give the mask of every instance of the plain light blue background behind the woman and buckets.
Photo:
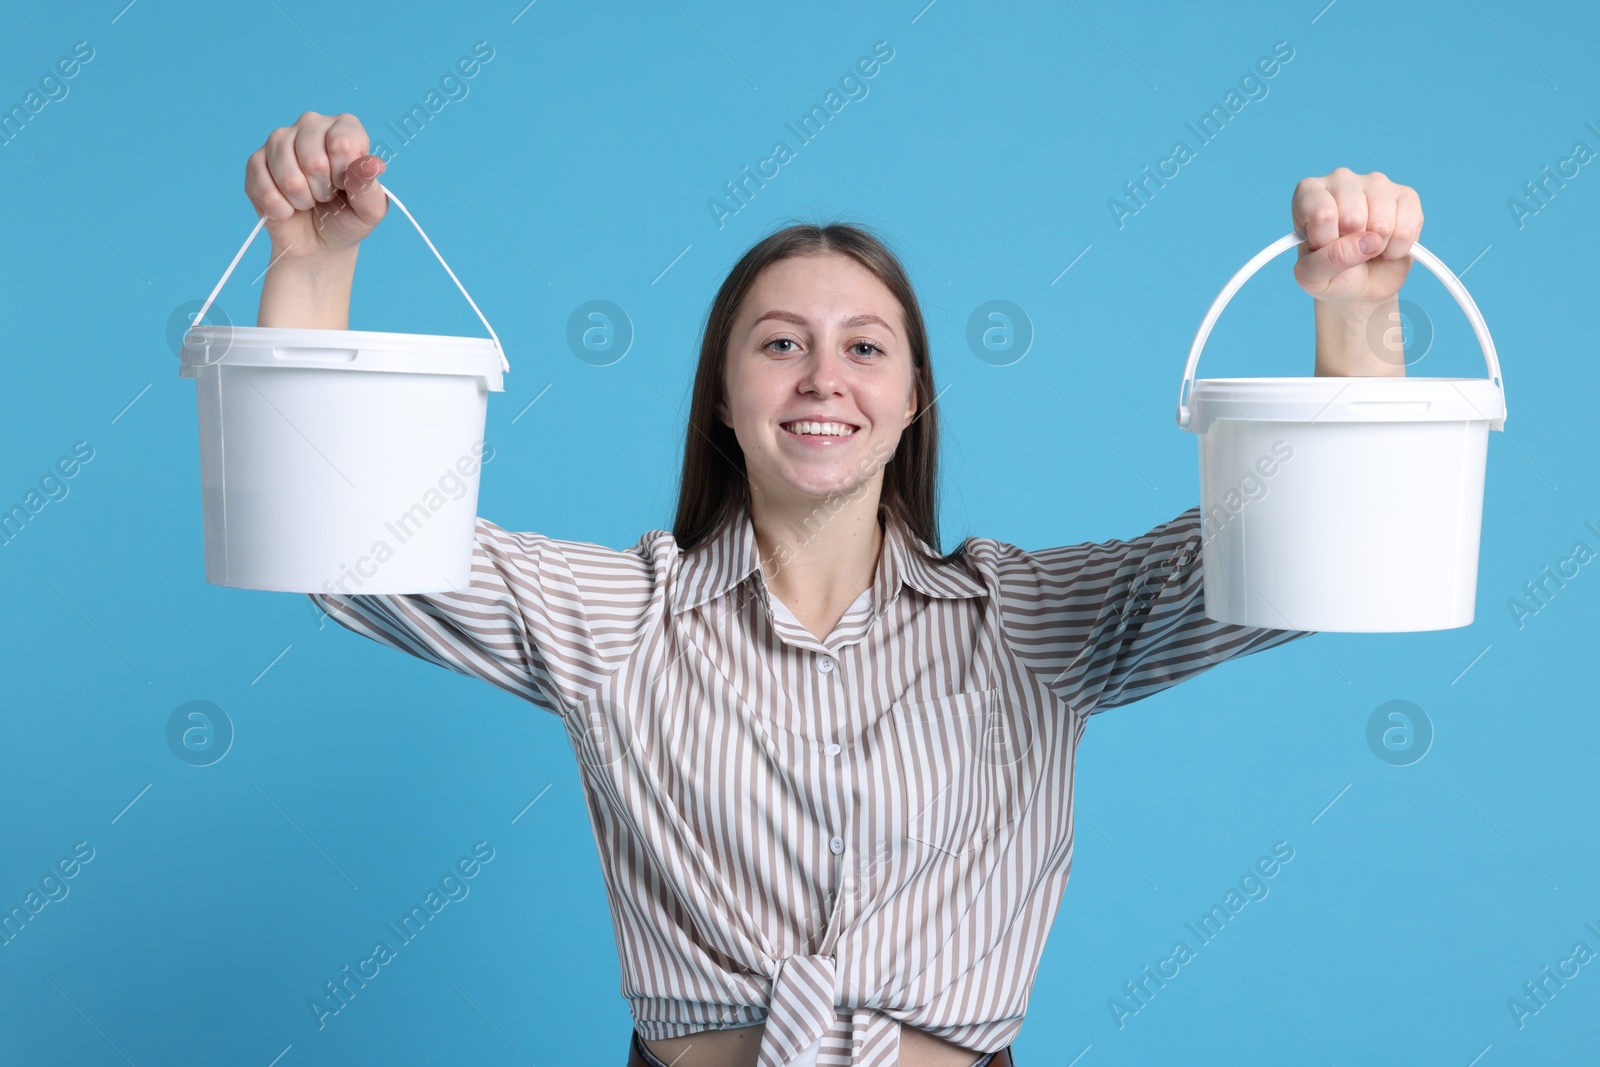
<svg viewBox="0 0 1600 1067">
<path fill-rule="evenodd" d="M 194 386 L 165 341 L 248 234 L 243 166 L 274 126 L 350 110 L 381 136 L 477 40 L 494 59 L 384 181 L 512 363 L 480 512 L 614 547 L 670 526 L 698 328 L 733 261 L 790 218 L 875 226 L 914 275 L 949 386 L 942 547 L 1043 547 L 1134 536 L 1198 501 L 1195 440 L 1173 421 L 1184 355 L 1227 277 L 1288 232 L 1298 179 L 1346 165 L 1418 189 L 1422 242 L 1467 270 L 1507 382 L 1477 621 L 1318 635 L 1094 718 L 1074 875 L 1016 1054 L 1594 1054 L 1600 963 L 1525 1029 L 1507 998 L 1576 941 L 1600 950 L 1584 928 L 1600 926 L 1600 565 L 1523 629 L 1507 600 L 1576 541 L 1600 549 L 1584 528 L 1600 526 L 1600 165 L 1523 227 L 1507 200 L 1576 141 L 1600 149 L 1584 126 L 1600 125 L 1600 21 L 1506 0 L 925 2 L 6 13 L 5 107 L 74 42 L 94 59 L 0 147 L 0 502 L 77 440 L 94 459 L 0 549 L 0 902 L 78 840 L 94 859 L 0 947 L 0 1061 L 622 1062 L 629 1014 L 558 723 L 318 625 L 304 597 L 208 585 Z M 880 40 L 894 58 L 869 96 L 718 229 L 707 200 Z M 1278 40 L 1294 58 L 1269 96 L 1118 230 L 1106 200 Z M 1202 376 L 1310 374 L 1291 259 L 1229 307 Z M 266 262 L 262 238 L 222 293 L 238 323 Z M 1482 376 L 1443 286 L 1416 267 L 1403 296 L 1437 330 L 1411 373 Z M 589 299 L 637 331 L 610 366 L 565 341 Z M 1037 333 L 1010 366 L 965 344 L 990 299 Z M 398 214 L 362 253 L 352 326 L 482 336 Z M 237 729 L 208 768 L 166 747 L 190 699 Z M 1437 731 L 1411 766 L 1365 739 L 1390 699 Z M 496 853 L 470 896 L 318 1030 L 323 981 L 480 840 Z M 1107 998 L 1274 841 L 1294 859 L 1270 896 L 1118 1030 Z"/>
</svg>

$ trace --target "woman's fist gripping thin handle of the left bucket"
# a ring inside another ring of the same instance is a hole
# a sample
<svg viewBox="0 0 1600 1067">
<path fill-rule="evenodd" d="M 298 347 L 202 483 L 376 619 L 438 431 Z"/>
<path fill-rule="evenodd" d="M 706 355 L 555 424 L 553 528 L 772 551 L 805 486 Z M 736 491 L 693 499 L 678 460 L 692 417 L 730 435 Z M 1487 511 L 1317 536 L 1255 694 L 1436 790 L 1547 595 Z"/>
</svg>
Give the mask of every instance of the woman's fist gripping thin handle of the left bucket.
<svg viewBox="0 0 1600 1067">
<path fill-rule="evenodd" d="M 245 166 L 245 195 L 267 219 L 272 259 L 338 258 L 360 245 L 389 208 L 382 173 L 355 115 L 309 110 L 267 134 Z"/>
</svg>

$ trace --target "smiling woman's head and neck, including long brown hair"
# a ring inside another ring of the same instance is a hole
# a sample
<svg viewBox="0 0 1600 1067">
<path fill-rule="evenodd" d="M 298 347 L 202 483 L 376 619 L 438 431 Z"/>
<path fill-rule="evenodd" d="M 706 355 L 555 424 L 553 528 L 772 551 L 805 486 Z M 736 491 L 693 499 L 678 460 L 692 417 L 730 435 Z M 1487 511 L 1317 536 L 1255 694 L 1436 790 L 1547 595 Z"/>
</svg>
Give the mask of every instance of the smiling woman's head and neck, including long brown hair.
<svg viewBox="0 0 1600 1067">
<path fill-rule="evenodd" d="M 936 395 L 922 309 L 899 262 L 858 227 L 790 226 L 741 267 L 706 325 L 674 530 L 693 550 L 747 512 L 760 555 L 784 558 L 763 573 L 768 589 L 827 633 L 872 584 L 880 502 L 939 544 L 938 419 L 918 418 Z M 872 483 L 800 536 L 818 499 Z"/>
</svg>

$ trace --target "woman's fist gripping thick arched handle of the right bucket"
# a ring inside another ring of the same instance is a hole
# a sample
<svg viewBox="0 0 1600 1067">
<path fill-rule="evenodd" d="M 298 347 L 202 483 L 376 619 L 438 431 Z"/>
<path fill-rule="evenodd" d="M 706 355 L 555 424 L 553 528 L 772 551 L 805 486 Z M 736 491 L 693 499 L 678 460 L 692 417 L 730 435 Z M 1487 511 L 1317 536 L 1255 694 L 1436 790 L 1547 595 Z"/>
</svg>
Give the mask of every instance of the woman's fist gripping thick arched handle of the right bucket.
<svg viewBox="0 0 1600 1067">
<path fill-rule="evenodd" d="M 1411 269 L 1411 245 L 1422 232 L 1422 200 L 1379 171 L 1331 174 L 1294 186 L 1290 210 L 1306 235 L 1294 280 L 1318 301 L 1342 306 L 1382 302 L 1400 291 Z"/>
</svg>

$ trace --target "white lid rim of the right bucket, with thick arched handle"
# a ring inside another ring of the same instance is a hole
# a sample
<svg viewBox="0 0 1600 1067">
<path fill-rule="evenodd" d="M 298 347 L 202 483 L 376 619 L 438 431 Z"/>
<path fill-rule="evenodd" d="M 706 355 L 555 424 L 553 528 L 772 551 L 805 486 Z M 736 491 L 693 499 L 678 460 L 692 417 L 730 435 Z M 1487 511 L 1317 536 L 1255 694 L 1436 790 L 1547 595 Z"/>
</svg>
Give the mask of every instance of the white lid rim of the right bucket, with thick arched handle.
<svg viewBox="0 0 1600 1067">
<path fill-rule="evenodd" d="M 1202 378 L 1189 394 L 1194 434 L 1250 422 L 1501 422 L 1506 395 L 1486 378 Z"/>
</svg>

